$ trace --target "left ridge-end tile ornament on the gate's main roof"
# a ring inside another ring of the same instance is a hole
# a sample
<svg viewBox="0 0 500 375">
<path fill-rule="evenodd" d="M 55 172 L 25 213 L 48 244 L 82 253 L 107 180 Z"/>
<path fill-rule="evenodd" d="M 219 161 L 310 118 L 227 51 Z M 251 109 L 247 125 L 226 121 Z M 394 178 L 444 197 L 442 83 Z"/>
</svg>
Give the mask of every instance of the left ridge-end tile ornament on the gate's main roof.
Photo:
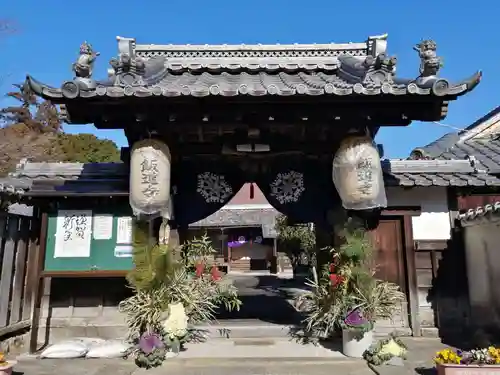
<svg viewBox="0 0 500 375">
<path fill-rule="evenodd" d="M 114 84 L 118 86 L 144 85 L 142 76 L 146 73 L 144 59 L 135 55 L 135 40 L 132 38 L 117 37 L 118 58 L 110 60 L 111 69 L 108 74 Z"/>
</svg>

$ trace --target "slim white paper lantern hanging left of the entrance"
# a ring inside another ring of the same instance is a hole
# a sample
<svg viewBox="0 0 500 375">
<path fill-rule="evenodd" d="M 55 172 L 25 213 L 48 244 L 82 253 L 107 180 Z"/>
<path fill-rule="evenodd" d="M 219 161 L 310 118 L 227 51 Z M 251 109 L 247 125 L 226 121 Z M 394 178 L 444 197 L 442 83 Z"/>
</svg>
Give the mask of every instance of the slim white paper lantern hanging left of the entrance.
<svg viewBox="0 0 500 375">
<path fill-rule="evenodd" d="M 130 206 L 137 216 L 169 219 L 171 158 L 156 139 L 138 141 L 130 153 Z"/>
</svg>

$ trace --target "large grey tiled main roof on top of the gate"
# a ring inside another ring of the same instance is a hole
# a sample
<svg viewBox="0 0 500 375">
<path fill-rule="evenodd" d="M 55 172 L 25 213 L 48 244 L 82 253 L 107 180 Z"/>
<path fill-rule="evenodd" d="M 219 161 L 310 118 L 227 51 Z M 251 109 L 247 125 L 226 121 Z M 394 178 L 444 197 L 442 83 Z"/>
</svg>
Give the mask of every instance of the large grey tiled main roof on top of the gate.
<svg viewBox="0 0 500 375">
<path fill-rule="evenodd" d="M 432 42 L 433 43 L 433 42 Z M 32 77 L 26 86 L 55 102 L 96 97 L 205 97 L 263 95 L 431 95 L 453 99 L 472 90 L 481 73 L 458 83 L 421 73 L 394 75 L 396 58 L 386 55 L 386 35 L 364 43 L 324 45 L 137 45 L 118 38 L 113 74 L 96 81 L 88 73 L 50 87 Z M 84 46 L 85 47 L 85 46 Z M 434 48 L 435 44 L 422 48 Z M 420 52 L 422 66 L 437 62 Z M 88 69 L 85 53 L 79 63 Z M 91 67 L 90 67 L 91 68 Z M 90 71 L 91 69 L 89 69 Z"/>
</svg>

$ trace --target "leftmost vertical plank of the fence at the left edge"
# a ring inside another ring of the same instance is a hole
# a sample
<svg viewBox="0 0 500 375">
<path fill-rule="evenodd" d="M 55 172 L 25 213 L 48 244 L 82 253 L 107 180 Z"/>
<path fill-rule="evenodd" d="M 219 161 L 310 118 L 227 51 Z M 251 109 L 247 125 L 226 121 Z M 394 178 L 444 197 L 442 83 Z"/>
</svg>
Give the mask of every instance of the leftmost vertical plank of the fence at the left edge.
<svg viewBox="0 0 500 375">
<path fill-rule="evenodd" d="M 14 276 L 16 237 L 19 228 L 19 217 L 17 215 L 9 215 L 7 228 L 2 261 L 2 273 L 0 276 L 0 327 L 5 327 L 9 323 L 11 310 L 10 295 Z"/>
</svg>

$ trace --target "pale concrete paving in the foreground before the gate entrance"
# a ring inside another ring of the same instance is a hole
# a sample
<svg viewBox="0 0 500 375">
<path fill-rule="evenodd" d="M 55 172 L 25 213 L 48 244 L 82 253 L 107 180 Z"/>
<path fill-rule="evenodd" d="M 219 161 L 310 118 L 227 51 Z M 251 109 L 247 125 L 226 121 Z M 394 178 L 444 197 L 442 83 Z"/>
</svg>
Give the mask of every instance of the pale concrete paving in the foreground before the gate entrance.
<svg viewBox="0 0 500 375">
<path fill-rule="evenodd" d="M 210 345 L 191 344 L 187 351 L 170 358 L 163 366 L 143 370 L 132 360 L 68 359 L 49 360 L 21 356 L 15 368 L 18 375 L 430 375 L 434 374 L 432 358 L 446 347 L 436 339 L 403 339 L 408 346 L 408 360 L 403 367 L 370 368 L 365 361 L 346 358 L 335 351 L 280 341 L 269 345 L 244 345 L 241 340 L 213 340 Z M 247 343 L 248 344 L 248 343 Z M 204 346 L 207 345 L 207 346 Z M 197 347 L 198 346 L 198 347 Z M 210 349 L 208 346 L 211 346 Z"/>
</svg>

